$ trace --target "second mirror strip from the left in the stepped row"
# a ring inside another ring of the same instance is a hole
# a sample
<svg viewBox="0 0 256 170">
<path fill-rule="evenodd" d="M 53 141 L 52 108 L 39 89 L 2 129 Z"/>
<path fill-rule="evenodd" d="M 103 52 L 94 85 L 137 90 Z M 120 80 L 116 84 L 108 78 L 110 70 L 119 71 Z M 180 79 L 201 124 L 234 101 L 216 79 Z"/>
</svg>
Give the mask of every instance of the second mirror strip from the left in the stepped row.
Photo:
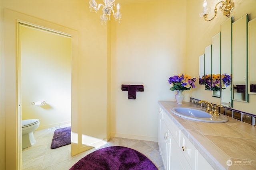
<svg viewBox="0 0 256 170">
<path fill-rule="evenodd" d="M 204 89 L 212 90 L 212 45 L 208 45 L 204 49 Z"/>
</svg>

